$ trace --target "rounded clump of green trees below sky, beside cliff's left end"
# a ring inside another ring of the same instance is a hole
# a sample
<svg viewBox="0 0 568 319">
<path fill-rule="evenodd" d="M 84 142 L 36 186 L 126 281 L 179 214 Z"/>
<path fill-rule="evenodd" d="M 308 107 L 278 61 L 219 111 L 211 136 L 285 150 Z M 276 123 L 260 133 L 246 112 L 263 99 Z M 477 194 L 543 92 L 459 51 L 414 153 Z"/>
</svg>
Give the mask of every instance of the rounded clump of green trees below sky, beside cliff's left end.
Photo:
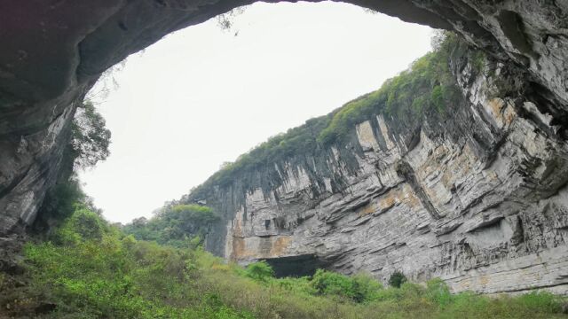
<svg viewBox="0 0 568 319">
<path fill-rule="evenodd" d="M 211 225 L 218 221 L 219 217 L 208 206 L 166 205 L 150 220 L 138 218 L 123 231 L 138 240 L 184 247 L 192 242 L 192 245 L 199 244 Z"/>
</svg>

